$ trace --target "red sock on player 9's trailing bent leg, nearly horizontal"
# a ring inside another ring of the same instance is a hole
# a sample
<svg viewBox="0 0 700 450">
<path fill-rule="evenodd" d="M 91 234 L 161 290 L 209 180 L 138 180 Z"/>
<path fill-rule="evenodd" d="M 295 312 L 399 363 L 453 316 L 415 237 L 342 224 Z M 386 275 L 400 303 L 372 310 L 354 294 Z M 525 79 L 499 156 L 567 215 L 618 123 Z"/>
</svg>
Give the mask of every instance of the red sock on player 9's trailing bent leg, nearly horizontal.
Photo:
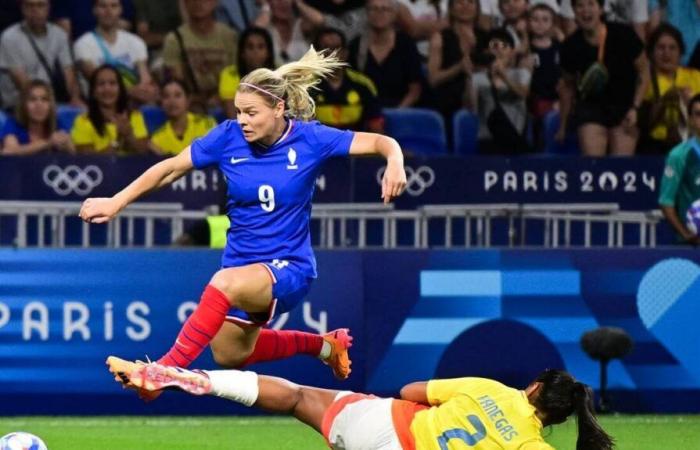
<svg viewBox="0 0 700 450">
<path fill-rule="evenodd" d="M 318 356 L 323 347 L 323 336 L 303 331 L 260 330 L 253 353 L 243 366 L 262 361 L 274 361 L 297 354 Z"/>
</svg>

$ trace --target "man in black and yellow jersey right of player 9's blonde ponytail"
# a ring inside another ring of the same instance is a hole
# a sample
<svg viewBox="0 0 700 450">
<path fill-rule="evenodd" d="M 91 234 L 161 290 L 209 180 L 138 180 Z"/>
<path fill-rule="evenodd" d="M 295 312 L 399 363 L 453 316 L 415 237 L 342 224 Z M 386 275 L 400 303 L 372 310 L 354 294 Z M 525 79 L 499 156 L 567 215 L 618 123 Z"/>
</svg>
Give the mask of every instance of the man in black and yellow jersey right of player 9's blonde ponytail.
<svg viewBox="0 0 700 450">
<path fill-rule="evenodd" d="M 314 47 L 335 51 L 340 61 L 347 61 L 347 42 L 338 29 L 321 29 Z M 363 73 L 348 67 L 339 68 L 319 83 L 312 96 L 316 102 L 316 118 L 321 123 L 349 130 L 384 132 L 377 88 Z"/>
</svg>

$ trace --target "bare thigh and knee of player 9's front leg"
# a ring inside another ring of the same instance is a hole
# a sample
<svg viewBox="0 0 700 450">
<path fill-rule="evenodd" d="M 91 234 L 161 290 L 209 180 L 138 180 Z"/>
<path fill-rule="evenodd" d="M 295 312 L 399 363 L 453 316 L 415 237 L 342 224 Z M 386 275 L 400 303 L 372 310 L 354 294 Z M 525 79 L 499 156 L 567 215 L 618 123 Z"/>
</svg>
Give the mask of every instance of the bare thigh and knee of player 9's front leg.
<svg viewBox="0 0 700 450">
<path fill-rule="evenodd" d="M 210 284 L 226 294 L 231 305 L 247 312 L 266 312 L 272 302 L 272 277 L 262 264 L 219 270 Z"/>
</svg>

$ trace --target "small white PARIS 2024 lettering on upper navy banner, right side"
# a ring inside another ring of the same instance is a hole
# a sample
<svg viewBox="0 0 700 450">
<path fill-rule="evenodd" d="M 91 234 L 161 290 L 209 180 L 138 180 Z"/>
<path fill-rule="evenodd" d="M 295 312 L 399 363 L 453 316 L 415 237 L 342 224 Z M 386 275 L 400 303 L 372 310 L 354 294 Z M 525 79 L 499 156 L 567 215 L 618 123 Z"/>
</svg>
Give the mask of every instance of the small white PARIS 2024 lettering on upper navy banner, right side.
<svg viewBox="0 0 700 450">
<path fill-rule="evenodd" d="M 578 178 L 577 183 L 570 183 Z M 483 175 L 484 192 L 639 192 L 643 187 L 656 191 L 656 176 L 646 171 L 641 173 L 625 171 L 615 173 L 606 170 L 600 174 L 584 170 L 577 174 L 556 172 L 534 172 L 532 170 L 506 170 L 501 173 L 485 170 Z"/>
</svg>

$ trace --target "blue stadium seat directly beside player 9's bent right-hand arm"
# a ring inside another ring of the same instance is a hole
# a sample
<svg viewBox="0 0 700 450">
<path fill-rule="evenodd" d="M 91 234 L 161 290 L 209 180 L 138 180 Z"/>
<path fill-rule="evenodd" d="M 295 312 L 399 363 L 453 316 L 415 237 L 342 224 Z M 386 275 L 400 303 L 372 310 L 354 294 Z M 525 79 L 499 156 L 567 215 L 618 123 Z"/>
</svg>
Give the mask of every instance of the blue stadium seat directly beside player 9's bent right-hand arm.
<svg viewBox="0 0 700 450">
<path fill-rule="evenodd" d="M 445 122 L 436 111 L 422 108 L 385 108 L 386 134 L 409 153 L 447 153 Z"/>
</svg>

